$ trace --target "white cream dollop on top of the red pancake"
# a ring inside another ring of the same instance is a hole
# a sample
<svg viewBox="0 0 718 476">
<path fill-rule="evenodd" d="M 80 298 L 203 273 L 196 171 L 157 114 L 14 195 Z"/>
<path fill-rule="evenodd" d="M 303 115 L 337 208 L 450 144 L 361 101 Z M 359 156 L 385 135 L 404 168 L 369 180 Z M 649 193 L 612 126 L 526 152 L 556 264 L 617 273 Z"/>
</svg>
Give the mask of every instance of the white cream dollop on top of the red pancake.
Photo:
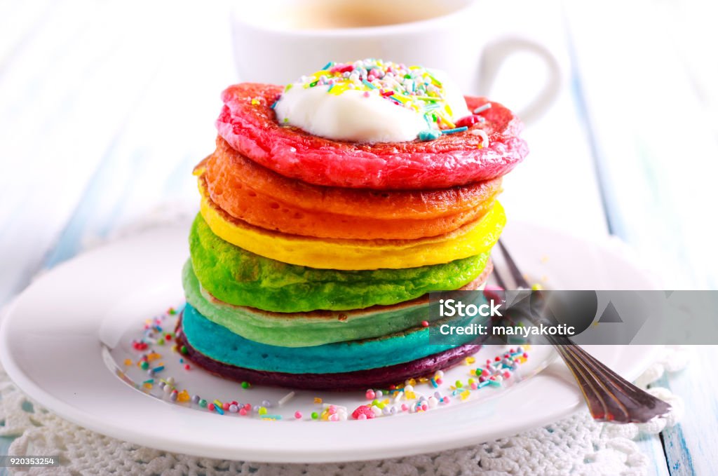
<svg viewBox="0 0 718 476">
<path fill-rule="evenodd" d="M 470 115 L 456 85 L 440 71 L 432 74 L 442 82 L 452 120 Z M 329 90 L 330 85 L 305 88 L 294 83 L 274 106 L 277 120 L 314 136 L 368 143 L 413 141 L 421 131 L 438 129 L 425 120 L 424 113 L 382 97 L 379 89 L 348 89 L 340 94 Z"/>
</svg>

